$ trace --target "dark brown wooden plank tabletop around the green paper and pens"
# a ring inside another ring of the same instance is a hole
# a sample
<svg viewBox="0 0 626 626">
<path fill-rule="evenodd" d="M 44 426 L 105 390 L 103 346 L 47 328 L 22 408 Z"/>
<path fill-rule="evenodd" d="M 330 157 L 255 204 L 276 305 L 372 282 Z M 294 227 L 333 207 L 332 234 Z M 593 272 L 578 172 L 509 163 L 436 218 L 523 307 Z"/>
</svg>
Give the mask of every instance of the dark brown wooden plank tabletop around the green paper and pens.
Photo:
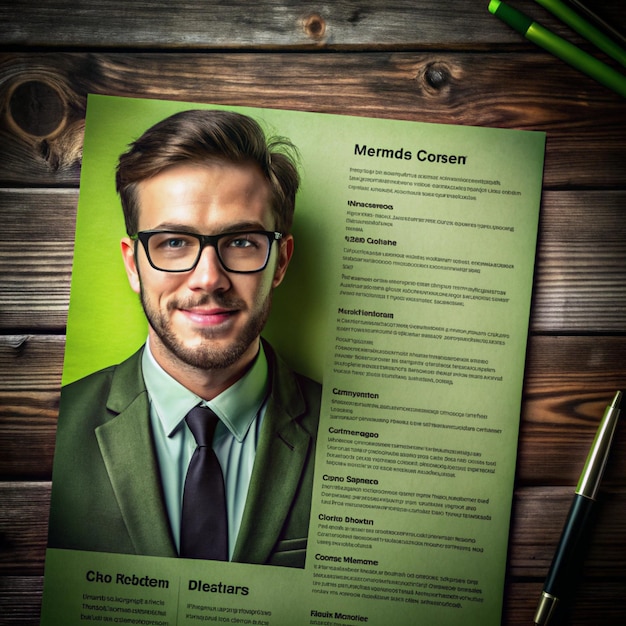
<svg viewBox="0 0 626 626">
<path fill-rule="evenodd" d="M 606 59 L 532 0 L 511 4 Z M 590 4 L 626 32 L 623 0 Z M 626 101 L 487 5 L 0 0 L 1 624 L 38 623 L 88 93 L 547 133 L 503 615 L 532 623 L 626 387 Z M 593 531 L 562 623 L 622 625 L 626 424 Z"/>
</svg>

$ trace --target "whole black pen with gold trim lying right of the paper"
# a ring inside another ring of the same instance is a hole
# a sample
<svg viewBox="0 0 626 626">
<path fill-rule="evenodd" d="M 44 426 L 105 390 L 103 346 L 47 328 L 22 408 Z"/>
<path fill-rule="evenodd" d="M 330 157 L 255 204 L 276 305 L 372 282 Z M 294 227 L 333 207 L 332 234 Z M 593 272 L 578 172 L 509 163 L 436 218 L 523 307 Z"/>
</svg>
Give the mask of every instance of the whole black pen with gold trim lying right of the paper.
<svg viewBox="0 0 626 626">
<path fill-rule="evenodd" d="M 620 413 L 621 401 L 622 392 L 618 391 L 613 402 L 606 408 L 598 427 L 598 432 L 576 487 L 574 501 L 567 515 L 559 545 L 543 586 L 543 592 L 535 612 L 535 624 L 545 626 L 550 621 L 559 598 L 563 596 L 565 591 L 567 575 L 575 565 L 578 544 L 590 519 L 591 509 L 600 488 Z"/>
</svg>

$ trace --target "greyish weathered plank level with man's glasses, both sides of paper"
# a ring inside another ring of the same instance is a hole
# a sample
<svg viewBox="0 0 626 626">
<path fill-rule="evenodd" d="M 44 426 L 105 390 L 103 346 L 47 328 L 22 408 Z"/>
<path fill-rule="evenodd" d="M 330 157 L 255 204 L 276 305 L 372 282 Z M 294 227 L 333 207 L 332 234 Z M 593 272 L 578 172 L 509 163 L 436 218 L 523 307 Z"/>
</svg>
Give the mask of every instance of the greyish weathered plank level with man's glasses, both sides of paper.
<svg viewBox="0 0 626 626">
<path fill-rule="evenodd" d="M 0 189 L 0 329 L 63 332 L 76 190 Z M 531 328 L 620 333 L 626 328 L 626 191 L 544 194 Z M 120 209 L 121 210 L 121 209 Z"/>
</svg>

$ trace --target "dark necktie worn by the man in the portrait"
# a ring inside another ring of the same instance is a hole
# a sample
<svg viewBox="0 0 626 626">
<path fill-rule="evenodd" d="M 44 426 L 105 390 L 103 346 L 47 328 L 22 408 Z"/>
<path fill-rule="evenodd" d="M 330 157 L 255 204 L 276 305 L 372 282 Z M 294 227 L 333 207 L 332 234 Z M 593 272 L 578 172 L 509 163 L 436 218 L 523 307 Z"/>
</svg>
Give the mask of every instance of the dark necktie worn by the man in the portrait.
<svg viewBox="0 0 626 626">
<path fill-rule="evenodd" d="M 180 556 L 188 559 L 228 560 L 228 523 L 224 477 L 213 451 L 219 418 L 207 407 L 194 407 L 185 417 L 196 448 L 183 492 Z"/>
</svg>

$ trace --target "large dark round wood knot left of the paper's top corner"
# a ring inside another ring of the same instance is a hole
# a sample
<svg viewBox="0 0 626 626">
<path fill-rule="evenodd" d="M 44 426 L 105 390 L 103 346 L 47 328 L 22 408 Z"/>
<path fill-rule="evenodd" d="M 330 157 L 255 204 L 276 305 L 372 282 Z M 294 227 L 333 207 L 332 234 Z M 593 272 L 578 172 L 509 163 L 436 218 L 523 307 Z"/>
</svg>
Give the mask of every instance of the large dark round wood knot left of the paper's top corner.
<svg viewBox="0 0 626 626">
<path fill-rule="evenodd" d="M 30 137 L 51 137 L 65 127 L 65 98 L 54 85 L 41 80 L 25 81 L 13 87 L 7 110 L 15 128 Z"/>
</svg>

